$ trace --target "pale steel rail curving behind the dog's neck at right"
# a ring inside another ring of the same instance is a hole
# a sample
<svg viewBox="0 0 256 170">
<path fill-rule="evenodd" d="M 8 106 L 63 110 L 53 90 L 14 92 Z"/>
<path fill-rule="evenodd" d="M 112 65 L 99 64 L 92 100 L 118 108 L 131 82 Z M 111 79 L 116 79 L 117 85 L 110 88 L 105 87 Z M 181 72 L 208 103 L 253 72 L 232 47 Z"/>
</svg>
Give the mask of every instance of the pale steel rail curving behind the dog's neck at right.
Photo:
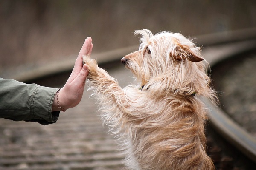
<svg viewBox="0 0 256 170">
<path fill-rule="evenodd" d="M 206 48 L 203 51 L 203 56 L 209 62 L 210 67 L 213 67 L 225 59 L 255 49 L 256 40 L 248 40 Z M 241 153 L 244 153 L 244 155 L 256 162 L 256 139 L 233 119 L 227 116 L 227 113 L 221 108 L 213 105 L 209 99 L 202 98 L 202 100 L 206 107 L 209 108 L 208 116 L 212 127 L 218 131 L 224 139 L 240 150 Z"/>
</svg>

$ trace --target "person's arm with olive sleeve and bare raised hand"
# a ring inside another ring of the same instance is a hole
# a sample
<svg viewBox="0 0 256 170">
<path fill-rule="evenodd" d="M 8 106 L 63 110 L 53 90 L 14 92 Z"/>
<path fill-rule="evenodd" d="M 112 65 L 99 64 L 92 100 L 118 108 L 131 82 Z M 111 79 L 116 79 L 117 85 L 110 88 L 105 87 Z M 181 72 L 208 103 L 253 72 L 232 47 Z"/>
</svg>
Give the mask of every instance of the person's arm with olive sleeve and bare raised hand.
<svg viewBox="0 0 256 170">
<path fill-rule="evenodd" d="M 92 48 L 91 38 L 88 37 L 69 79 L 59 91 L 59 103 L 64 109 L 73 108 L 81 101 L 88 74 L 87 65 L 82 64 L 81 56 L 90 54 Z M 0 78 L 0 118 L 38 122 L 42 125 L 55 123 L 61 110 L 57 104 L 57 90 Z"/>
</svg>

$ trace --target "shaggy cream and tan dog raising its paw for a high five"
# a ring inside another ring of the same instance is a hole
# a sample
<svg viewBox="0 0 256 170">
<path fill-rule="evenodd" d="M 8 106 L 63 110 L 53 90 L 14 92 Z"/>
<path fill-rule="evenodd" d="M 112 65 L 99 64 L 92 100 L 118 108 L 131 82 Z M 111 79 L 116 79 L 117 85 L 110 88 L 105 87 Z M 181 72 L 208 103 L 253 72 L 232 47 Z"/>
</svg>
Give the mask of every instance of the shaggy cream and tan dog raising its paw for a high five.
<svg viewBox="0 0 256 170">
<path fill-rule="evenodd" d="M 213 170 L 206 153 L 207 120 L 200 96 L 214 101 L 201 48 L 180 33 L 140 34 L 138 51 L 121 59 L 139 85 L 116 79 L 83 56 L 103 122 L 116 135 L 131 170 Z"/>
</svg>

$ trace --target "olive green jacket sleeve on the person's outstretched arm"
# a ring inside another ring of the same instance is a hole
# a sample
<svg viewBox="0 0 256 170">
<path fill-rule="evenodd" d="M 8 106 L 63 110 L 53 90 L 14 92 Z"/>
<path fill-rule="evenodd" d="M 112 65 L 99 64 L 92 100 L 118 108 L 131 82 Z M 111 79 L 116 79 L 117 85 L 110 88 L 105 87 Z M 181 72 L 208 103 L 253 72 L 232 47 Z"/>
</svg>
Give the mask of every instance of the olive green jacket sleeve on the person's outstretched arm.
<svg viewBox="0 0 256 170">
<path fill-rule="evenodd" d="M 38 122 L 42 125 L 55 123 L 60 113 L 52 112 L 57 90 L 0 78 L 0 118 Z"/>
</svg>

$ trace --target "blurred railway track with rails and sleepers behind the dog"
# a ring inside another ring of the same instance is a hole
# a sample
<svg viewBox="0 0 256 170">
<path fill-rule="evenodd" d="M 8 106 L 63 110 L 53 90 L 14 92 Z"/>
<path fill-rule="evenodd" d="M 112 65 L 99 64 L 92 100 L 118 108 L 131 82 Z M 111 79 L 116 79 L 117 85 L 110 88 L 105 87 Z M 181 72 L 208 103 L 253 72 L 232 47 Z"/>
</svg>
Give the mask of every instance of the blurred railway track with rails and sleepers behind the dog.
<svg viewBox="0 0 256 170">
<path fill-rule="evenodd" d="M 246 34 L 245 34 L 246 33 Z M 223 59 L 256 48 L 256 29 L 207 35 L 196 41 L 203 44 L 203 56 L 210 66 Z M 217 38 L 216 38 L 217 37 Z M 221 37 L 221 38 L 220 38 Z M 213 40 L 215 39 L 215 40 Z M 207 41 L 208 40 L 208 41 Z M 211 40 L 211 41 L 209 41 Z M 207 43 L 208 42 L 208 43 Z M 95 54 L 99 65 L 119 80 L 121 86 L 132 81 L 129 71 L 116 67 L 116 61 L 138 46 Z M 107 59 L 107 60 L 106 60 Z M 37 68 L 16 77 L 19 81 L 61 87 L 72 61 L 58 63 L 61 67 Z M 55 65 L 55 64 L 52 64 Z M 114 68 L 113 68 L 114 66 Z M 35 74 L 36 73 L 36 74 Z M 58 77 L 58 82 L 56 82 Z M 124 77 L 130 77 L 124 79 Z M 55 84 L 52 84 L 55 82 Z M 95 114 L 96 105 L 87 99 L 78 107 L 61 115 L 58 123 L 42 127 L 30 122 L 0 120 L 0 170 L 119 170 L 122 154 Z M 203 99 L 209 108 L 207 122 L 207 153 L 218 170 L 253 170 L 256 168 L 256 140 L 230 119 L 224 111 Z M 72 117 L 70 118 L 70 115 Z"/>
</svg>

